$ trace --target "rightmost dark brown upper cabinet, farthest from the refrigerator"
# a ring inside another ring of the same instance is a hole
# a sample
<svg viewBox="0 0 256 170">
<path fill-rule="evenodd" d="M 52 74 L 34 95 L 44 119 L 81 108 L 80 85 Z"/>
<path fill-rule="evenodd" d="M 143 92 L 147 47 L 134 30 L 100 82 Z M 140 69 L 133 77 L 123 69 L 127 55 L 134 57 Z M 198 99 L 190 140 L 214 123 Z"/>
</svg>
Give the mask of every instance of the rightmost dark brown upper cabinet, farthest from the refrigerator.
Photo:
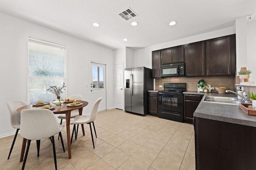
<svg viewBox="0 0 256 170">
<path fill-rule="evenodd" d="M 206 75 L 234 76 L 236 71 L 235 35 L 206 40 Z"/>
</svg>

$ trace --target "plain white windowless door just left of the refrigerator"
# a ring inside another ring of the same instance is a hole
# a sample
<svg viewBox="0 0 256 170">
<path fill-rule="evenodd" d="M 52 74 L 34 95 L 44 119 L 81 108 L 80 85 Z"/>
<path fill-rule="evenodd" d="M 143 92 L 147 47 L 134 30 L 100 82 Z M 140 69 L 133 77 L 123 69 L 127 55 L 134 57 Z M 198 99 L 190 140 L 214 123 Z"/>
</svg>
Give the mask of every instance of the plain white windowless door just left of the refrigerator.
<svg viewBox="0 0 256 170">
<path fill-rule="evenodd" d="M 124 109 L 124 64 L 116 64 L 115 68 L 115 107 L 116 109 Z"/>
</svg>

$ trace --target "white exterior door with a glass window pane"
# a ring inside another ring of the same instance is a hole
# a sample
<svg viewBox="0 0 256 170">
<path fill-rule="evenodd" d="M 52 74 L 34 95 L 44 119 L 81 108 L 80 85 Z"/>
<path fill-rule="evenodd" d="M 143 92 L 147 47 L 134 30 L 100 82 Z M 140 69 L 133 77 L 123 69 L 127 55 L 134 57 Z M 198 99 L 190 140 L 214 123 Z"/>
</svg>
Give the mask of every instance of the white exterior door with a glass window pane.
<svg viewBox="0 0 256 170">
<path fill-rule="evenodd" d="M 91 62 L 91 102 L 94 104 L 98 98 L 99 109 L 106 110 L 106 64 Z"/>
</svg>

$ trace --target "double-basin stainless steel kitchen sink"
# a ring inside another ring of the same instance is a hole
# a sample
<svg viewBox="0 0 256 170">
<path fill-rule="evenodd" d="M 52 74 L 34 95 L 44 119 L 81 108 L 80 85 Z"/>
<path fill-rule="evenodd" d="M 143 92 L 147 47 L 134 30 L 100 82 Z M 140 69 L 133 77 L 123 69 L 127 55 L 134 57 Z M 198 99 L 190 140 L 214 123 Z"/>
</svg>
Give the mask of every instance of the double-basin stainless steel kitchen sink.
<svg viewBox="0 0 256 170">
<path fill-rule="evenodd" d="M 231 97 L 219 97 L 219 96 L 204 96 L 203 102 L 214 102 L 214 103 L 222 103 L 222 104 L 240 104 L 244 103 L 238 98 Z"/>
</svg>

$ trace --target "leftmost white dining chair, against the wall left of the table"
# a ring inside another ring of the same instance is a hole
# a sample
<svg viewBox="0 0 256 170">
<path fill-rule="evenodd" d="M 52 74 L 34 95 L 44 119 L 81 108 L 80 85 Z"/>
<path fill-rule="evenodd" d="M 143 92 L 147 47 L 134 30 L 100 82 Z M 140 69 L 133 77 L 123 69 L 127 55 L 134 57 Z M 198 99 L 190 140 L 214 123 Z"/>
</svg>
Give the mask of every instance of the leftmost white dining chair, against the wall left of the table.
<svg viewBox="0 0 256 170">
<path fill-rule="evenodd" d="M 23 102 L 22 100 L 11 100 L 9 102 L 7 102 L 7 107 L 9 109 L 9 113 L 10 113 L 10 124 L 12 126 L 12 128 L 16 129 L 16 133 L 14 136 L 14 139 L 12 141 L 12 146 L 8 155 L 8 159 L 11 156 L 12 153 L 12 149 L 14 147 L 14 143 L 16 141 L 16 137 L 18 135 L 18 131 L 20 130 L 20 113 L 17 111 L 18 108 L 23 107 L 23 106 L 27 106 L 28 104 L 26 104 L 25 102 Z"/>
</svg>

